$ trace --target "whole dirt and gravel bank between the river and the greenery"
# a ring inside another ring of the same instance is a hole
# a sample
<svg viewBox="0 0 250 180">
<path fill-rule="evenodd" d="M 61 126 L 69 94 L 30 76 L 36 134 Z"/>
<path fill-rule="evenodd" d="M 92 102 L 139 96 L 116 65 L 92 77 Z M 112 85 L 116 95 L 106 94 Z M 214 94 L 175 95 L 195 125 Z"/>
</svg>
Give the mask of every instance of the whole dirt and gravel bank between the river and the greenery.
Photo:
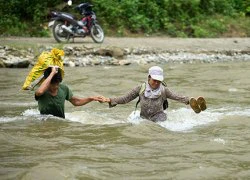
<svg viewBox="0 0 250 180">
<path fill-rule="evenodd" d="M 3 67 L 16 67 L 12 64 L 22 61 L 33 64 L 37 54 L 32 48 L 36 47 L 41 52 L 58 46 L 63 47 L 66 52 L 65 65 L 72 67 L 152 62 L 250 61 L 250 38 L 106 37 L 102 44 L 94 43 L 91 38 L 76 38 L 74 43 L 59 45 L 53 38 L 2 37 L 0 46 L 0 64 Z M 20 56 L 16 50 L 9 48 L 11 46 L 25 47 L 28 50 L 27 53 L 22 51 Z"/>
</svg>

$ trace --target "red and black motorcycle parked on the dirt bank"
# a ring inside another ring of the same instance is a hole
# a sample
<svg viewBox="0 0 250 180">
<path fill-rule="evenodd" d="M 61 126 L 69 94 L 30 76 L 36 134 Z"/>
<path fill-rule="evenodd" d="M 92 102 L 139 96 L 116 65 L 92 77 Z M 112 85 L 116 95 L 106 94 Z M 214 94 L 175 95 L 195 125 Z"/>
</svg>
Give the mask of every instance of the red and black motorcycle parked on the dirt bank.
<svg viewBox="0 0 250 180">
<path fill-rule="evenodd" d="M 68 1 L 71 5 L 72 1 Z M 71 38 L 91 36 L 94 42 L 102 43 L 104 40 L 104 32 L 101 26 L 97 23 L 96 14 L 92 11 L 93 5 L 90 3 L 81 3 L 75 7 L 81 15 L 81 20 L 76 20 L 75 17 L 65 12 L 51 12 L 51 21 L 49 28 L 52 29 L 55 40 L 59 43 L 66 43 Z"/>
</svg>

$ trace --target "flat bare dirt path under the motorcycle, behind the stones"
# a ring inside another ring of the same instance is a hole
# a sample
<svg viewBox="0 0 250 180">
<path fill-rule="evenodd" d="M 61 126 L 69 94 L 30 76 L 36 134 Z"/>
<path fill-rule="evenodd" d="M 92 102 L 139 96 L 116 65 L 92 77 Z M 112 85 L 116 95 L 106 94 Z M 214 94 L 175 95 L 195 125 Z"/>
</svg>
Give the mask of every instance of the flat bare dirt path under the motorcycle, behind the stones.
<svg viewBox="0 0 250 180">
<path fill-rule="evenodd" d="M 20 46 L 34 45 L 58 45 L 51 38 L 23 38 L 23 37 L 1 37 L 0 45 L 16 44 Z M 141 37 L 141 38 L 116 38 L 106 37 L 102 44 L 96 44 L 91 38 L 76 38 L 74 43 L 67 43 L 65 46 L 86 46 L 86 47 L 106 47 L 116 46 L 121 48 L 149 48 L 161 50 L 184 50 L 184 51 L 250 51 L 250 38 L 168 38 L 168 37 Z"/>
</svg>

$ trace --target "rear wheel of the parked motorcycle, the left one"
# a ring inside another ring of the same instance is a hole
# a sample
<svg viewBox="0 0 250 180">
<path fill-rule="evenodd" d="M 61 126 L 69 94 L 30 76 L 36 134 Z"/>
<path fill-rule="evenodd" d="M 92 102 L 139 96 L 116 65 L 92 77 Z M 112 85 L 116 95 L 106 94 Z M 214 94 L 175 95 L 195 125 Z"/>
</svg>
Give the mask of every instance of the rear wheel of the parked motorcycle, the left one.
<svg viewBox="0 0 250 180">
<path fill-rule="evenodd" d="M 55 24 L 53 26 L 53 36 L 55 38 L 55 40 L 59 43 L 67 43 L 69 42 L 70 39 L 70 33 L 65 32 L 62 29 L 62 25 L 64 23 L 61 21 L 55 21 Z"/>
</svg>

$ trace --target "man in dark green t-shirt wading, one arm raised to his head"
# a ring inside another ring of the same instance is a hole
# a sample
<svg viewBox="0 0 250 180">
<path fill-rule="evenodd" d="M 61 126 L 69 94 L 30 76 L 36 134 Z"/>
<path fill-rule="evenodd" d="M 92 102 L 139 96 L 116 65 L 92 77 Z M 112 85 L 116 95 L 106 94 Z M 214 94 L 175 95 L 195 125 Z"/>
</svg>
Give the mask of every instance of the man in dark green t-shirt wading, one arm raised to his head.
<svg viewBox="0 0 250 180">
<path fill-rule="evenodd" d="M 38 107 L 41 114 L 51 114 L 57 117 L 65 118 L 64 102 L 70 101 L 74 106 L 82 106 L 91 101 L 103 101 L 102 96 L 93 96 L 87 98 L 78 98 L 73 96 L 68 86 L 61 84 L 61 69 L 58 67 L 49 67 L 44 72 L 45 80 L 35 91 L 35 99 L 38 101 Z"/>
</svg>

